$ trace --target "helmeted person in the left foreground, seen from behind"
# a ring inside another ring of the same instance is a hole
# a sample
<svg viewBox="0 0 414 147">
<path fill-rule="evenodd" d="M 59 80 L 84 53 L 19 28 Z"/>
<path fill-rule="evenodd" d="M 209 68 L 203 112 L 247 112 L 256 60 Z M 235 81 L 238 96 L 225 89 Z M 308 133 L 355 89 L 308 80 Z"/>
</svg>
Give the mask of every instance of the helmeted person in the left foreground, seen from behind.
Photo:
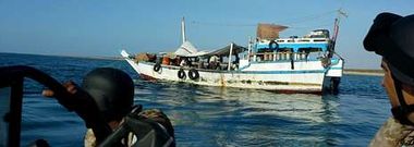
<svg viewBox="0 0 414 147">
<path fill-rule="evenodd" d="M 133 109 L 134 83 L 132 78 L 121 70 L 98 68 L 85 76 L 82 88 L 77 87 L 73 82 L 66 82 L 63 86 L 66 87 L 69 93 L 74 95 L 82 91 L 89 94 L 112 131 L 117 130 L 123 123 L 123 118 Z M 46 89 L 42 91 L 42 95 L 52 97 L 53 91 Z M 161 128 L 169 134 L 172 140 L 165 146 L 175 146 L 173 138 L 174 130 L 165 113 L 158 109 L 149 109 L 139 112 L 138 115 L 160 124 L 160 126 L 162 126 Z M 122 140 L 125 146 L 133 146 L 136 142 L 137 138 L 132 133 L 129 134 L 126 140 Z M 86 132 L 84 143 L 85 147 L 97 146 L 94 132 L 90 128 Z"/>
</svg>

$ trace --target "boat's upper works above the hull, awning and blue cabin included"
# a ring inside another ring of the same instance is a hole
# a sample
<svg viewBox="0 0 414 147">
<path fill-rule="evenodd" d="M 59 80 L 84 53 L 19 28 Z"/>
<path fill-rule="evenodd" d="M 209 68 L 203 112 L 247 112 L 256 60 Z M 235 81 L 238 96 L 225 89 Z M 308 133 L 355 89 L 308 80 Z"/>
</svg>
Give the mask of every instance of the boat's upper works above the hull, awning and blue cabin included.
<svg viewBox="0 0 414 147">
<path fill-rule="evenodd" d="M 331 48 L 329 30 L 316 29 L 303 37 L 256 39 L 248 47 L 230 44 L 214 51 L 197 51 L 185 41 L 175 52 L 137 54 L 136 62 L 147 62 L 186 69 L 236 71 L 249 63 L 320 60 Z"/>
</svg>

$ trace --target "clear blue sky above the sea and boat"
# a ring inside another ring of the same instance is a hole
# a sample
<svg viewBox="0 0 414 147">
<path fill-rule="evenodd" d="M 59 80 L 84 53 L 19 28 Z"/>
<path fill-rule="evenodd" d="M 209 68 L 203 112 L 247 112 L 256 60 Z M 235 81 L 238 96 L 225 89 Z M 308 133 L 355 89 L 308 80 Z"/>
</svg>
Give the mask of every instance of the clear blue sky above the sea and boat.
<svg viewBox="0 0 414 147">
<path fill-rule="evenodd" d="M 111 57 L 130 52 L 174 51 L 180 21 L 197 48 L 247 45 L 257 23 L 290 26 L 281 36 L 332 29 L 342 19 L 337 51 L 346 68 L 379 69 L 379 57 L 363 49 L 380 12 L 414 14 L 413 0 L 0 0 L 0 52 Z M 1 62 L 1 59 L 0 59 Z"/>
</svg>

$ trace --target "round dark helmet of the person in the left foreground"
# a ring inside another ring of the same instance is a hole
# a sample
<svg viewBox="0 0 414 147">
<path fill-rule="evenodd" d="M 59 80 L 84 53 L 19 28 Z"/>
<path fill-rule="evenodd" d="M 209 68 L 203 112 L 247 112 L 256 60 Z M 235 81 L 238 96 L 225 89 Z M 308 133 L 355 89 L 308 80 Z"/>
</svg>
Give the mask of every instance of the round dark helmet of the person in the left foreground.
<svg viewBox="0 0 414 147">
<path fill-rule="evenodd" d="M 121 70 L 95 69 L 86 75 L 82 87 L 95 99 L 107 122 L 121 120 L 132 109 L 134 83 Z"/>
</svg>

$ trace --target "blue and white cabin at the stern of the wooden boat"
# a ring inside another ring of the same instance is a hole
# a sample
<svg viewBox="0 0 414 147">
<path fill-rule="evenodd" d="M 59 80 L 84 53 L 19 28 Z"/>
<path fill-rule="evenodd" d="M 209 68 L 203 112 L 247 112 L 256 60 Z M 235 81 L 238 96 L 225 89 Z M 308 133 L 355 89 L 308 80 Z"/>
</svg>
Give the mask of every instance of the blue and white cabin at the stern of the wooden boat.
<svg viewBox="0 0 414 147">
<path fill-rule="evenodd" d="M 314 60 L 326 54 L 330 46 L 329 30 L 316 29 L 303 37 L 256 39 L 251 58 L 253 62 Z"/>
</svg>

